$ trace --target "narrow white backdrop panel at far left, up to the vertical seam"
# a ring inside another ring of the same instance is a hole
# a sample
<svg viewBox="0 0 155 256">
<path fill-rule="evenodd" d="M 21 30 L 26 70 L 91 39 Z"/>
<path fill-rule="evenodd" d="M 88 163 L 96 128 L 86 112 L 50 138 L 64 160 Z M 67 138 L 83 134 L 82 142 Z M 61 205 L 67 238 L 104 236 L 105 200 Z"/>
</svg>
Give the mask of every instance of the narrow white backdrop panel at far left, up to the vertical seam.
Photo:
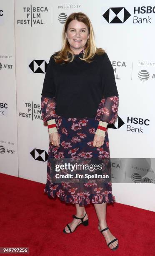
<svg viewBox="0 0 155 256">
<path fill-rule="evenodd" d="M 0 1 L 0 172 L 18 177 L 13 1 Z"/>
</svg>

